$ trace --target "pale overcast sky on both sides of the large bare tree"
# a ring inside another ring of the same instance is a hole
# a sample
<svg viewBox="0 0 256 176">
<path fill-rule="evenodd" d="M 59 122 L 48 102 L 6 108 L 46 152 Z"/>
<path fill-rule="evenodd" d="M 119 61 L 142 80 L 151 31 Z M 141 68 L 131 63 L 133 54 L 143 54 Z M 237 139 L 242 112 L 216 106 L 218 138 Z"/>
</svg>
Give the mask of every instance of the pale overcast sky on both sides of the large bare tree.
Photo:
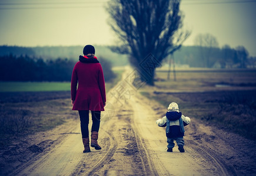
<svg viewBox="0 0 256 176">
<path fill-rule="evenodd" d="M 104 5 L 108 0 L 0 0 L 0 45 L 114 45 Z M 183 0 L 184 27 L 211 33 L 219 46 L 245 46 L 256 56 L 256 1 Z"/>
</svg>

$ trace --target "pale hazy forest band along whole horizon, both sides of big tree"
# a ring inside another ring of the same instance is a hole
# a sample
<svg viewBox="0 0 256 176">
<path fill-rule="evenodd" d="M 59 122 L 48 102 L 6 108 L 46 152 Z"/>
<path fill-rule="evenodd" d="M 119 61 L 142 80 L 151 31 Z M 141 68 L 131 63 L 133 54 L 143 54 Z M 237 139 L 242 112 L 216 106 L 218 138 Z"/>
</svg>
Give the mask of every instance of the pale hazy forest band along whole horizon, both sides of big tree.
<svg viewBox="0 0 256 176">
<path fill-rule="evenodd" d="M 84 46 L 42 46 L 42 47 L 20 47 L 20 46 L 0 46 L 0 56 L 29 56 L 54 60 L 52 58 L 67 58 L 68 60 L 78 60 L 82 55 Z M 119 55 L 111 51 L 108 46 L 95 45 L 95 55 L 103 57 L 111 62 L 112 66 L 128 65 L 128 56 Z M 240 46 L 231 48 L 228 45 L 222 48 L 204 48 L 200 46 L 182 46 L 174 52 L 174 60 L 177 65 L 187 65 L 189 67 L 254 67 L 256 57 L 250 57 L 247 49 Z M 165 58 L 162 65 L 168 64 Z"/>
</svg>

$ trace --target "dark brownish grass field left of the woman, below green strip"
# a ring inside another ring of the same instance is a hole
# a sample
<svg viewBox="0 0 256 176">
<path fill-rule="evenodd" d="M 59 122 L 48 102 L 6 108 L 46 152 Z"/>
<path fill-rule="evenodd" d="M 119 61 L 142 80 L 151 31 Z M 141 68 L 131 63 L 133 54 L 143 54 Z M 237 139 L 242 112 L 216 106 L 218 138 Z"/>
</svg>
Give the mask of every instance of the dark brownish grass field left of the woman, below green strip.
<svg viewBox="0 0 256 176">
<path fill-rule="evenodd" d="M 68 119 L 76 118 L 71 111 L 69 99 L 52 99 L 18 103 L 1 103 L 0 146 L 10 143 L 15 137 L 45 131 Z"/>
</svg>

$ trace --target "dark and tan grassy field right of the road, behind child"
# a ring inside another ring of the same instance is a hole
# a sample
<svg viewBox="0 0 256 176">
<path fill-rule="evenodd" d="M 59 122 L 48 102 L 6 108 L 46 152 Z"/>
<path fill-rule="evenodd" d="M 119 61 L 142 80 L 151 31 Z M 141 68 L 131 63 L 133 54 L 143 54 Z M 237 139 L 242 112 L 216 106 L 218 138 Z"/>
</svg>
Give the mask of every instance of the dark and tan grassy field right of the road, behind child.
<svg viewBox="0 0 256 176">
<path fill-rule="evenodd" d="M 256 140 L 256 86 L 254 72 L 180 72 L 177 81 L 157 72 L 157 90 L 142 95 L 164 107 L 175 101 L 185 116 L 215 124 L 227 131 Z M 232 79 L 231 79 L 232 78 Z M 231 87 L 215 87 L 224 82 Z M 165 113 L 163 112 L 163 115 Z"/>
</svg>

